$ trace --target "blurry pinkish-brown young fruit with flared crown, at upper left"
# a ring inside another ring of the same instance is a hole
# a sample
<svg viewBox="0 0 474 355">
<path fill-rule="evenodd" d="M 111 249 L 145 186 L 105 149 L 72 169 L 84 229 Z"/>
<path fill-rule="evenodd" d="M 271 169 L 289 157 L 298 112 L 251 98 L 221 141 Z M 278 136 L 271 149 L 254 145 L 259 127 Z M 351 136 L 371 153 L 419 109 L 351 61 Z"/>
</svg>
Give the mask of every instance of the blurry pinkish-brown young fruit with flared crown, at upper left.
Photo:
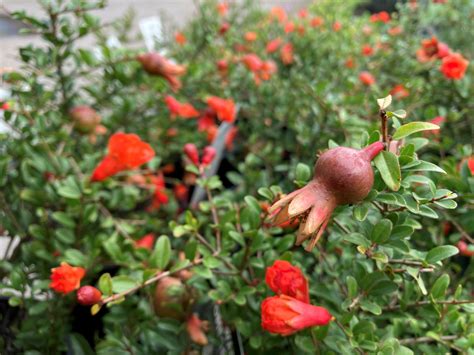
<svg viewBox="0 0 474 355">
<path fill-rule="evenodd" d="M 161 54 L 155 52 L 140 54 L 137 56 L 137 60 L 148 74 L 161 76 L 167 80 L 173 91 L 181 88 L 181 81 L 178 77 L 186 72 L 184 66 L 174 64 Z"/>
</svg>

